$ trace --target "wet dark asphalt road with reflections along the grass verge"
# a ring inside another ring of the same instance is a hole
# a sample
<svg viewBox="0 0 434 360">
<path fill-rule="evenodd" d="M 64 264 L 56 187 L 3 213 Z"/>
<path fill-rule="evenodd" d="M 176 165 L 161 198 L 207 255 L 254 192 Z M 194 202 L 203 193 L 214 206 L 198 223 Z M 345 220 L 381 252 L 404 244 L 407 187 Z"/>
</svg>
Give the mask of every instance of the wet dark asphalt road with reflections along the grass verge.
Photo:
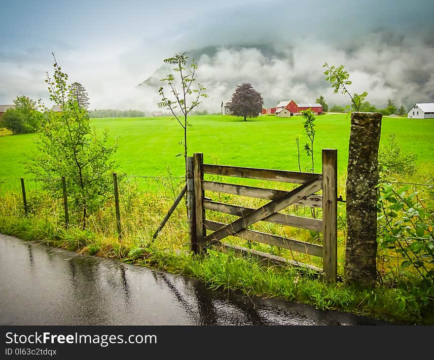
<svg viewBox="0 0 434 360">
<path fill-rule="evenodd" d="M 383 325 L 0 234 L 0 325 Z"/>
</svg>

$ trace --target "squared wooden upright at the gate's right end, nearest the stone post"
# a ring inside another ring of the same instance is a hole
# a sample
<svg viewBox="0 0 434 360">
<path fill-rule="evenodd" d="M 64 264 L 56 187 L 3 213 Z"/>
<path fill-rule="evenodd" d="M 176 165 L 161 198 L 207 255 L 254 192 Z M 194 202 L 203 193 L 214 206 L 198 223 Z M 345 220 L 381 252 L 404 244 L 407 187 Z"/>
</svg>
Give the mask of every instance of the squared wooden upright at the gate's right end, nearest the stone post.
<svg viewBox="0 0 434 360">
<path fill-rule="evenodd" d="M 337 275 L 337 150 L 323 149 L 323 271 L 325 280 Z"/>
</svg>

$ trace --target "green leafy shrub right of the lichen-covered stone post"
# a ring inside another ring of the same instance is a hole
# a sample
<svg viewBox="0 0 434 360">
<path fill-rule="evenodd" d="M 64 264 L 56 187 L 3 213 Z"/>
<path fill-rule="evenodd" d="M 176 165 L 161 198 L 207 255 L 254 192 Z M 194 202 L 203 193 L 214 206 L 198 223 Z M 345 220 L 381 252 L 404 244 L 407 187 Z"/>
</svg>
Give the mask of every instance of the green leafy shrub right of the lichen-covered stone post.
<svg viewBox="0 0 434 360">
<path fill-rule="evenodd" d="M 396 274 L 421 281 L 425 292 L 434 294 L 434 201 L 433 189 L 422 199 L 408 185 L 395 189 L 391 183 L 378 185 L 379 250 L 395 264 Z"/>
</svg>

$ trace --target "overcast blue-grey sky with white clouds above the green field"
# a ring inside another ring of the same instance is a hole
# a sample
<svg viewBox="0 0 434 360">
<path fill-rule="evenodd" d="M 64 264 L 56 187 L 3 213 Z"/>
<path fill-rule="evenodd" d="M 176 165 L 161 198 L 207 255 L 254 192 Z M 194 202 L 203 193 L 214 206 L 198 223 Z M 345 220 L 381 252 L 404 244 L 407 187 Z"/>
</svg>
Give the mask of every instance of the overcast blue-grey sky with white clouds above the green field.
<svg viewBox="0 0 434 360">
<path fill-rule="evenodd" d="M 44 80 L 53 72 L 54 52 L 71 82 L 86 88 L 90 108 L 150 113 L 158 89 L 137 85 L 165 58 L 205 47 L 215 51 L 198 57 L 197 78 L 207 88 L 203 107 L 210 111 L 241 82 L 252 83 L 264 107 L 289 99 L 312 103 L 320 95 L 329 105 L 348 104 L 325 82 L 325 62 L 345 65 L 350 91 L 368 91 L 377 107 L 387 99 L 405 107 L 434 102 L 433 0 L 0 4 L 0 104 L 26 95 L 51 105 Z"/>
</svg>

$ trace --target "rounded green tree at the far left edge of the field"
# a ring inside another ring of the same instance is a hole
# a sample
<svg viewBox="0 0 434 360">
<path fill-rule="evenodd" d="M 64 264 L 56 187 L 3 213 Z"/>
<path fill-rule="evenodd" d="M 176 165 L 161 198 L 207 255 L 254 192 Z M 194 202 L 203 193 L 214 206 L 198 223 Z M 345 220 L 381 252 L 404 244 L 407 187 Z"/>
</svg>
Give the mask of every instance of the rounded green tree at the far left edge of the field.
<svg viewBox="0 0 434 360">
<path fill-rule="evenodd" d="M 0 118 L 0 127 L 12 131 L 13 135 L 36 133 L 40 113 L 36 110 L 36 102 L 27 96 L 17 96 L 14 107 L 5 111 Z"/>
</svg>

